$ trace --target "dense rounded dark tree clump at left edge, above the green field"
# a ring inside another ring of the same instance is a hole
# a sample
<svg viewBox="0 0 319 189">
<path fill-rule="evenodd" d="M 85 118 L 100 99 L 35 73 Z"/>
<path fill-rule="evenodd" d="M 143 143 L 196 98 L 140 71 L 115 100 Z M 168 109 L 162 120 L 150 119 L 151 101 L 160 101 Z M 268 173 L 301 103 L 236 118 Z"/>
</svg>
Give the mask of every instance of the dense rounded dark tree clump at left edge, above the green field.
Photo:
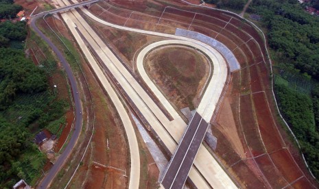
<svg viewBox="0 0 319 189">
<path fill-rule="evenodd" d="M 47 88 L 47 79 L 42 70 L 25 59 L 23 51 L 0 49 L 0 110 L 8 107 L 19 93 L 33 94 Z"/>
</svg>

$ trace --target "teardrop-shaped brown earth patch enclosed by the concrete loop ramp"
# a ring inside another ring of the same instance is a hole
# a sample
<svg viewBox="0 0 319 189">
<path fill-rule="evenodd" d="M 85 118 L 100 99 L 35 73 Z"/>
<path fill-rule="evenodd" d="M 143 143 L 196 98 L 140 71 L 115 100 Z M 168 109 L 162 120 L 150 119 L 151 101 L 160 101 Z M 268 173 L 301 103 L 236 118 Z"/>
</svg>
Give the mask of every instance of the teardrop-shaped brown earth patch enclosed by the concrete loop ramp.
<svg viewBox="0 0 319 189">
<path fill-rule="evenodd" d="M 211 67 L 202 53 L 190 47 L 169 45 L 154 49 L 144 61 L 147 74 L 178 110 L 198 106 Z"/>
</svg>

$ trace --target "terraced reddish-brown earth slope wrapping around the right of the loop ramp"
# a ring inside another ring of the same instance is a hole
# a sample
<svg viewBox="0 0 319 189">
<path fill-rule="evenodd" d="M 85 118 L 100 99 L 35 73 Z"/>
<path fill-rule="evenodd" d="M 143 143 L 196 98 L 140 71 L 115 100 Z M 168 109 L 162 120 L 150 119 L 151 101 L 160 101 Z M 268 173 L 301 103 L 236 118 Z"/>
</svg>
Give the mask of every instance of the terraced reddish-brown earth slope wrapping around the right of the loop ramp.
<svg viewBox="0 0 319 189">
<path fill-rule="evenodd" d="M 176 1 L 170 2 L 170 7 L 167 5 L 161 1 L 104 1 L 89 10 L 117 25 L 166 34 L 172 34 L 179 27 L 198 31 L 226 45 L 241 64 L 241 70 L 232 73 L 231 86 L 217 121 L 212 123 L 218 141 L 213 152 L 240 186 L 316 186 L 302 157 L 296 153 L 298 149 L 276 121 L 269 63 L 258 32 L 231 14 Z M 252 37 L 254 40 L 250 39 Z M 233 118 L 225 121 L 229 116 Z"/>
</svg>

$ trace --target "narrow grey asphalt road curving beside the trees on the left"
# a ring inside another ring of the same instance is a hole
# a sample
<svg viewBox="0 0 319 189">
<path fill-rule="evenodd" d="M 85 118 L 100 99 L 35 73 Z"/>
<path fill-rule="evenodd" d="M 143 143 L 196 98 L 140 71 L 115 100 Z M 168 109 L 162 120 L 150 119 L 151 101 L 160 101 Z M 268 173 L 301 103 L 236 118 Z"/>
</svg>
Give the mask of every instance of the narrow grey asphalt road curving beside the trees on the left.
<svg viewBox="0 0 319 189">
<path fill-rule="evenodd" d="M 35 16 L 32 18 L 31 21 L 31 27 L 36 31 L 36 33 L 47 42 L 49 47 L 52 48 L 54 53 L 56 53 L 56 56 L 61 61 L 61 64 L 64 68 L 65 73 L 67 73 L 67 77 L 69 79 L 69 84 L 71 86 L 73 101 L 75 105 L 75 130 L 73 131 L 73 134 L 71 136 L 71 139 L 69 140 L 69 143 L 67 144 L 67 147 L 64 149 L 63 153 L 60 155 L 58 160 L 56 160 L 56 163 L 52 168 L 49 170 L 49 173 L 45 175 L 44 179 L 40 182 L 40 185 L 38 188 L 48 188 L 51 184 L 51 181 L 54 179 L 58 171 L 60 171 L 60 168 L 64 165 L 65 161 L 67 160 L 67 157 L 71 154 L 71 151 L 75 147 L 75 144 L 78 142 L 78 138 L 81 133 L 82 128 L 82 104 L 80 100 L 80 94 L 78 94 L 78 86 L 75 81 L 75 77 L 71 71 L 71 68 L 69 64 L 67 63 L 67 60 L 65 60 L 63 54 L 58 50 L 58 48 L 45 36 L 40 29 L 36 26 L 36 20 L 38 18 L 42 18 L 43 15 Z"/>
</svg>

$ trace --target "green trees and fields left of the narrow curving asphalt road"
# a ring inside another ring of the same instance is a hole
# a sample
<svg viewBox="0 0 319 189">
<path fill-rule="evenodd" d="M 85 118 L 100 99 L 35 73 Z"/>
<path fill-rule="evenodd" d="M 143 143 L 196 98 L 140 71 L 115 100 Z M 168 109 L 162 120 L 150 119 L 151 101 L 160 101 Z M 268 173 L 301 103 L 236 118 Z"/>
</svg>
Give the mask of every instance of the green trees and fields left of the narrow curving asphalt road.
<svg viewBox="0 0 319 189">
<path fill-rule="evenodd" d="M 47 55 L 47 60 L 36 66 L 25 54 L 26 38 L 24 21 L 0 23 L 0 188 L 12 188 L 20 179 L 34 185 L 43 174 L 47 157 L 33 138 L 63 119 L 67 108 L 67 102 L 57 100 L 56 92 L 49 89 L 50 73 L 45 65 L 56 61 Z"/>
</svg>

